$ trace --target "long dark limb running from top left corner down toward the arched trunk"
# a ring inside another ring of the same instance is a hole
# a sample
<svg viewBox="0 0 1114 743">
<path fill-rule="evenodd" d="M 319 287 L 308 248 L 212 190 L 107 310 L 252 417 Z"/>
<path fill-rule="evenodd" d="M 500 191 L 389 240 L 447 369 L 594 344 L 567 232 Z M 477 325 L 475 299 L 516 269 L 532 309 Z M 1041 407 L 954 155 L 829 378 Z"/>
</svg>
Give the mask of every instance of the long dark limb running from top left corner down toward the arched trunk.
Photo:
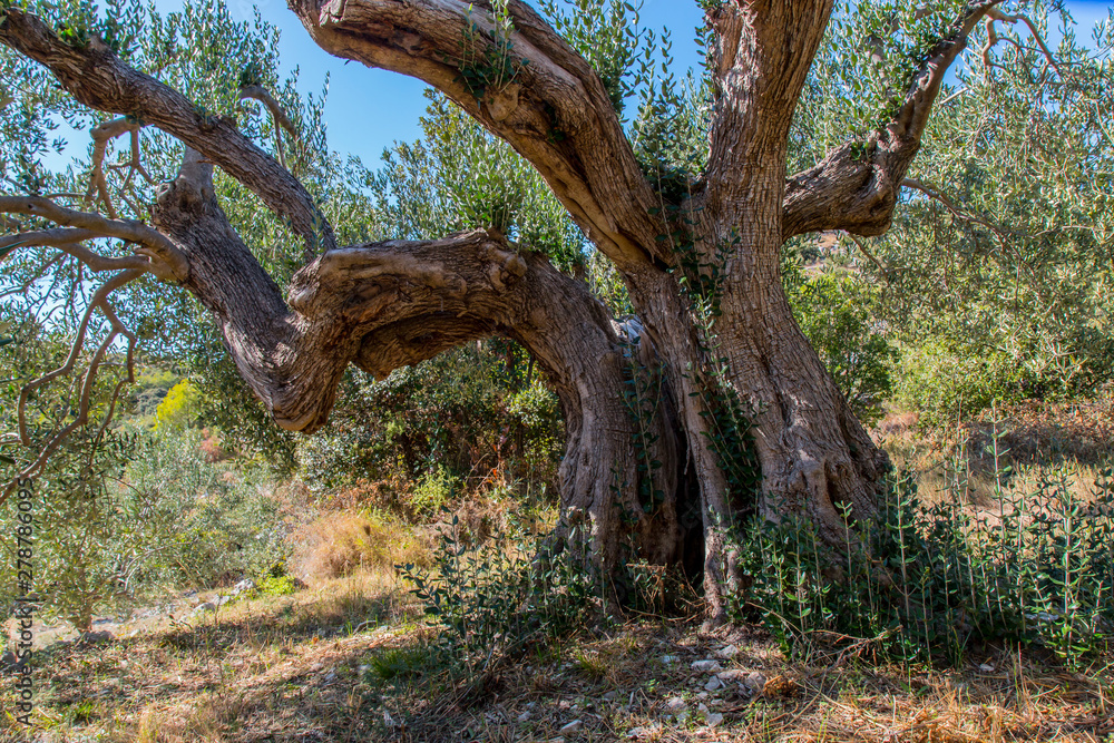
<svg viewBox="0 0 1114 743">
<path fill-rule="evenodd" d="M 0 43 L 47 67 L 86 106 L 131 116 L 201 151 L 289 218 L 314 253 L 335 246 L 332 228 L 305 187 L 233 121 L 206 114 L 177 90 L 133 69 L 99 39 L 84 48 L 70 46 L 41 19 L 12 8 L 0 25 Z"/>
</svg>

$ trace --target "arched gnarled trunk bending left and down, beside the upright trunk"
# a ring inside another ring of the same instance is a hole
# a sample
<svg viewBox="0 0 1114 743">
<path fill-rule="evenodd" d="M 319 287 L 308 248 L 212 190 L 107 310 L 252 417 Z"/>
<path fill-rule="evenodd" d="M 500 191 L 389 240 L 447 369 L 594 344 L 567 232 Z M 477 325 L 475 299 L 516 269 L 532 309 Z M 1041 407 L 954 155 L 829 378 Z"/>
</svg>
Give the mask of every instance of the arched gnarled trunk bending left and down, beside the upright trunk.
<svg viewBox="0 0 1114 743">
<path fill-rule="evenodd" d="M 625 561 L 682 558 L 687 504 L 672 401 L 644 421 L 656 441 L 636 449 L 637 423 L 617 391 L 656 360 L 583 282 L 479 231 L 328 251 L 294 276 L 283 301 L 225 218 L 211 176 L 211 166 L 187 151 L 178 178 L 160 189 L 154 222 L 188 260 L 186 285 L 212 311 L 241 374 L 280 426 L 320 428 L 349 363 L 383 378 L 467 341 L 504 335 L 538 361 L 565 416 L 556 536 L 587 541 L 604 576 Z M 662 462 L 652 489 L 664 500 L 648 510 L 637 497 L 641 456 Z M 622 586 L 613 588 L 622 597 Z"/>
</svg>

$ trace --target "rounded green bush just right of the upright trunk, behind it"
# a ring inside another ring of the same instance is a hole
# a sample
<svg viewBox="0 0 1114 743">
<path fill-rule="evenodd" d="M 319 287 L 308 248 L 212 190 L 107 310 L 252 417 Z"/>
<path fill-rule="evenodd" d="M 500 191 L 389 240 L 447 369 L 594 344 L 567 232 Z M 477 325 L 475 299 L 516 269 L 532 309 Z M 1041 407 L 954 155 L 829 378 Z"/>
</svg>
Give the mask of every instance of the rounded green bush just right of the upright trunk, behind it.
<svg viewBox="0 0 1114 743">
<path fill-rule="evenodd" d="M 804 335 L 851 410 L 866 426 L 873 424 L 892 391 L 890 368 L 897 359 L 897 350 L 874 319 L 877 291 L 860 275 L 838 268 L 807 276 L 789 267 L 782 276 Z M 926 398 L 932 394 L 919 392 Z"/>
</svg>

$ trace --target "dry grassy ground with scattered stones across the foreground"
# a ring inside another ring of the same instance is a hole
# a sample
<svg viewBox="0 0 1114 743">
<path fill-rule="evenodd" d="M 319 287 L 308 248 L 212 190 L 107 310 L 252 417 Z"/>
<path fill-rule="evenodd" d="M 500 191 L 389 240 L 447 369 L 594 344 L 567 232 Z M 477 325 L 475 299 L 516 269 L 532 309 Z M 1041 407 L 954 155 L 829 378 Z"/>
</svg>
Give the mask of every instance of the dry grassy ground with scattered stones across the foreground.
<svg viewBox="0 0 1114 743">
<path fill-rule="evenodd" d="M 38 741 L 578 741 L 659 743 L 1108 741 L 1112 658 L 1069 673 L 990 652 L 956 671 L 786 658 L 756 632 L 649 619 L 538 648 L 480 685 L 433 664 L 407 594 L 383 573 L 223 608 L 108 646 L 39 658 Z M 704 691 L 691 663 L 765 676 Z M 670 656 L 672 662 L 663 662 Z M 10 697 L 0 694 L 7 705 Z M 675 701 L 680 700 L 680 702 Z M 715 722 L 714 715 L 722 715 Z M 389 722 L 388 722 L 389 721 Z M 561 729 L 580 721 L 576 732 Z M 0 740 L 21 740 L 0 722 Z M 27 740 L 31 740 L 30 736 Z"/>
</svg>

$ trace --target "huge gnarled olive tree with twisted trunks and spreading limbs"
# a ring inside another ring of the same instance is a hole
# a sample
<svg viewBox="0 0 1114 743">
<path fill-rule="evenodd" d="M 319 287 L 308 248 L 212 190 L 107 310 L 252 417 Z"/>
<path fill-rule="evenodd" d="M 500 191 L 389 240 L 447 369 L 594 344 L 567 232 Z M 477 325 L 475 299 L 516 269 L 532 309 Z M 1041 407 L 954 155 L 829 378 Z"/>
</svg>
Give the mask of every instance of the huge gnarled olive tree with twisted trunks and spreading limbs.
<svg viewBox="0 0 1114 743">
<path fill-rule="evenodd" d="M 329 184 L 300 172 L 300 153 L 313 147 L 268 91 L 276 80 L 258 43 L 243 29 L 185 32 L 180 17 L 167 23 L 130 6 L 105 19 L 85 6 L 4 0 L 4 63 L 43 87 L 37 100 L 117 118 L 92 129 L 80 209 L 26 177 L 4 184 L 0 209 L 14 218 L 0 246 L 47 246 L 107 272 L 88 313 L 125 338 L 115 291 L 185 287 L 292 431 L 325 422 L 350 364 L 381 377 L 477 338 L 521 343 L 568 431 L 557 541 L 582 535 L 604 573 L 632 551 L 676 563 L 693 544 L 682 515 L 695 509 L 710 618 L 722 620 L 741 581 L 726 542 L 733 522 L 809 519 L 838 550 L 848 519 L 876 514 L 888 469 L 794 321 L 782 246 L 888 229 L 966 50 L 986 69 L 1029 63 L 1014 51 L 1028 45 L 1052 55 L 1040 9 L 1034 21 L 998 0 L 701 6 L 705 76 L 682 90 L 657 71 L 659 45 L 635 30 L 627 3 L 546 3 L 544 14 L 521 0 L 290 1 L 322 49 L 426 81 L 529 163 L 622 276 L 636 320 L 616 323 L 584 281 L 506 224 L 345 244 L 359 234 L 345 221 L 367 215 L 330 206 Z M 187 6 L 185 19 L 206 11 L 217 12 Z M 1047 67 L 1042 75 L 1061 75 Z M 268 123 L 242 123 L 241 99 L 262 102 Z M 846 116 L 797 116 L 818 106 Z M 33 116 L 25 128 L 41 139 Z M 138 153 L 152 130 L 182 144 L 180 166 L 138 203 L 131 187 L 147 178 Z M 106 145 L 120 136 L 133 157 L 109 165 Z M 292 275 L 229 221 L 237 204 L 218 198 L 214 168 L 289 224 Z M 131 194 L 131 218 L 117 213 L 114 190 Z M 100 238 L 117 241 L 115 252 L 87 245 Z M 75 348 L 82 340 L 84 331 Z"/>
</svg>

